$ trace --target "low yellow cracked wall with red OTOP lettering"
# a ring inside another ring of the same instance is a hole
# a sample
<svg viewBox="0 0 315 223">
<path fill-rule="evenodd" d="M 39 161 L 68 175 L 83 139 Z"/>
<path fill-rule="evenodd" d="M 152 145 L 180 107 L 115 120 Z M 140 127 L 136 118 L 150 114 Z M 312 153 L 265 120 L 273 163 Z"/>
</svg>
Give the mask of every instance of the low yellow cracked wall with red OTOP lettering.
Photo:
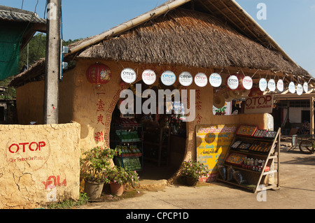
<svg viewBox="0 0 315 223">
<path fill-rule="evenodd" d="M 0 125 L 0 208 L 79 199 L 80 124 Z"/>
</svg>

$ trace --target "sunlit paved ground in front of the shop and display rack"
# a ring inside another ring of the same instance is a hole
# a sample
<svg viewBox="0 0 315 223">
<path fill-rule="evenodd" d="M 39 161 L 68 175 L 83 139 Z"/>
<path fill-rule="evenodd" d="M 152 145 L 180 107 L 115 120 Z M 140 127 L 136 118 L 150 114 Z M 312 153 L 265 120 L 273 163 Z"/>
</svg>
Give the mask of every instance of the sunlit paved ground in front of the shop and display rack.
<svg viewBox="0 0 315 223">
<path fill-rule="evenodd" d="M 115 202 L 90 203 L 82 209 L 225 209 L 315 208 L 315 154 L 281 146 L 280 187 L 265 194 L 214 182 L 202 187 L 169 185 L 158 192 Z M 265 201 L 263 201 L 265 199 Z M 262 200 L 262 201 L 261 201 Z"/>
</svg>

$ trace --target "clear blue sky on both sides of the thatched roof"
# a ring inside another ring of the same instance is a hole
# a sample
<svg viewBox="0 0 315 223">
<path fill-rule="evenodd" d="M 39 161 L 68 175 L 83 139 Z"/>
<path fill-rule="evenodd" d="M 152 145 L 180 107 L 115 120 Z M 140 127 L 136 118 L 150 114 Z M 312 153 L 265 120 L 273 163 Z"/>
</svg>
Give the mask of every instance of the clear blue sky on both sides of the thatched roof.
<svg viewBox="0 0 315 223">
<path fill-rule="evenodd" d="M 166 0 L 62 0 L 64 40 L 100 34 Z M 236 0 L 283 48 L 315 77 L 315 0 Z M 38 2 L 38 3 L 37 3 Z M 34 11 L 44 17 L 45 0 L 0 0 L 0 5 Z M 37 6 L 36 6 L 37 3 Z M 258 3 L 267 20 L 258 20 Z"/>
</svg>

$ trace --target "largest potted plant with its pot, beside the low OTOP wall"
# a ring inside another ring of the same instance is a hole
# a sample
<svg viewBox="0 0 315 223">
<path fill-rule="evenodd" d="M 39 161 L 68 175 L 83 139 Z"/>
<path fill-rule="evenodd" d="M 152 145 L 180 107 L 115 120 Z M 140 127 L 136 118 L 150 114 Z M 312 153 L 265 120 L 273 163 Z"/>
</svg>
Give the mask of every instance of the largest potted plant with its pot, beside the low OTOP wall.
<svg viewBox="0 0 315 223">
<path fill-rule="evenodd" d="M 118 154 L 119 150 L 102 147 L 95 147 L 83 153 L 84 158 L 80 159 L 81 174 L 85 181 L 85 193 L 90 199 L 101 196 L 104 183 L 109 182 L 107 175 L 111 159 Z"/>
</svg>

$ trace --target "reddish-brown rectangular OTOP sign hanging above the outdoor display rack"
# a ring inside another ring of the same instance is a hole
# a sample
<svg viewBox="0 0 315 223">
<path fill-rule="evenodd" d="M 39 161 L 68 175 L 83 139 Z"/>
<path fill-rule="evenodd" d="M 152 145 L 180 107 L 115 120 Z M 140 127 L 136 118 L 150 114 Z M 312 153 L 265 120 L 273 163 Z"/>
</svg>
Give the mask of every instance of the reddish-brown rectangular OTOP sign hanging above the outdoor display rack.
<svg viewBox="0 0 315 223">
<path fill-rule="evenodd" d="M 245 114 L 272 113 L 272 95 L 261 95 L 249 97 L 245 101 Z"/>
</svg>

